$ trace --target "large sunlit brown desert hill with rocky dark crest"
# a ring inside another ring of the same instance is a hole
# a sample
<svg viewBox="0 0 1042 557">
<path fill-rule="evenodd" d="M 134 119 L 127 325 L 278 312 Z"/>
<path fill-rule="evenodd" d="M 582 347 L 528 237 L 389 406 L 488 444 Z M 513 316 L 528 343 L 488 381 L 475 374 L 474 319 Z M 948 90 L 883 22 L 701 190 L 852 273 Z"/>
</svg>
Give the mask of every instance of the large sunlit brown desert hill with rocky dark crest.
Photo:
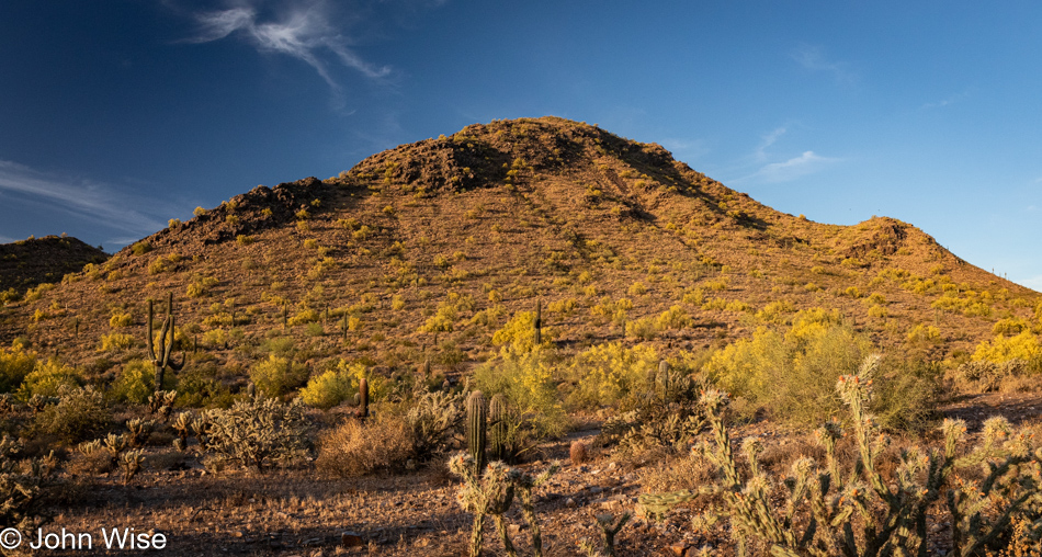
<svg viewBox="0 0 1042 557">
<path fill-rule="evenodd" d="M 310 363 L 460 371 L 537 299 L 564 348 L 699 350 L 823 307 L 935 357 L 1042 299 L 909 224 L 783 214 L 656 144 L 556 117 L 467 126 L 197 209 L 5 308 L 0 342 L 101 371 L 140 355 L 146 299 L 168 292 L 182 345 L 227 378 L 283 334 Z M 129 337 L 102 351 L 111 334 Z"/>
</svg>

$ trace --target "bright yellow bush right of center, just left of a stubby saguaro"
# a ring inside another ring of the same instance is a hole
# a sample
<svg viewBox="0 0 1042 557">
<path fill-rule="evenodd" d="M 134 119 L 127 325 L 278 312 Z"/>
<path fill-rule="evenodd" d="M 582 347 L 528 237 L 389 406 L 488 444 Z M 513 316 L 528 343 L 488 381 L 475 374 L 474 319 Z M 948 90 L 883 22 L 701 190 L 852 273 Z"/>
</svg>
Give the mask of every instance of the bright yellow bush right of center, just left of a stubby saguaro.
<svg viewBox="0 0 1042 557">
<path fill-rule="evenodd" d="M 642 391 L 658 370 L 654 348 L 599 344 L 576 354 L 565 376 L 573 388 L 568 403 L 578 408 L 616 407 Z"/>
</svg>

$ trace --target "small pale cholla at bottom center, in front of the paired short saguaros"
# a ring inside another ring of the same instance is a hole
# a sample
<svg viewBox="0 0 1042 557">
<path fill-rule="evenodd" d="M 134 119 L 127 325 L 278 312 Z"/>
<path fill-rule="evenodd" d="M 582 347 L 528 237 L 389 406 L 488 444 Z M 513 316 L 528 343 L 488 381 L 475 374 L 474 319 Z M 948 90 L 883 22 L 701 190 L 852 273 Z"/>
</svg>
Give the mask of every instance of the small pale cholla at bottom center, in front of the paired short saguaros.
<svg viewBox="0 0 1042 557">
<path fill-rule="evenodd" d="M 471 557 L 477 557 L 482 553 L 483 530 L 488 515 L 496 523 L 496 530 L 502 539 L 507 555 L 517 556 L 503 516 L 510 510 L 516 495 L 521 500 L 521 513 L 532 532 L 533 552 L 536 557 L 543 555 L 542 535 L 535 519 L 533 491 L 550 479 L 558 468 L 557 463 L 554 463 L 543 474 L 532 476 L 496 461 L 489 463 L 484 475 L 478 477 L 476 463 L 469 454 L 458 453 L 449 461 L 449 469 L 463 478 L 463 487 L 457 493 L 460 505 L 463 510 L 474 513 L 474 525 L 471 530 Z"/>
</svg>

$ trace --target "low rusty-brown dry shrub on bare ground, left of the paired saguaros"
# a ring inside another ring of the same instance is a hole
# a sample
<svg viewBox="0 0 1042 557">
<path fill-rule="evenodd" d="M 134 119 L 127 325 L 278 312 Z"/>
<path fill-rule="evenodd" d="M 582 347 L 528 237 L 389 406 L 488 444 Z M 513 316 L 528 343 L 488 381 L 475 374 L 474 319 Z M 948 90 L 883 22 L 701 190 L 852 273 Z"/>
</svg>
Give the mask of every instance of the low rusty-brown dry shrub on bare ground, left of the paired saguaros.
<svg viewBox="0 0 1042 557">
<path fill-rule="evenodd" d="M 364 422 L 348 420 L 322 435 L 315 464 L 327 474 L 352 477 L 404 467 L 411 455 L 409 425 L 401 417 L 381 413 Z"/>
</svg>

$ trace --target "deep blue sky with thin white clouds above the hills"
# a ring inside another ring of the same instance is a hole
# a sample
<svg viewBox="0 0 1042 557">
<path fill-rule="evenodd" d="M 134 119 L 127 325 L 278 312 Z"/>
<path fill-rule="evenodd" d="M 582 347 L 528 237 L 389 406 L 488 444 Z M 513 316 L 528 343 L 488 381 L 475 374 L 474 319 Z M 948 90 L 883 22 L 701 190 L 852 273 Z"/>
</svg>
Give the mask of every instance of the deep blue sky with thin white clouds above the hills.
<svg viewBox="0 0 1042 557">
<path fill-rule="evenodd" d="M 106 251 L 258 184 L 555 115 L 1042 291 L 1042 3 L 4 0 L 0 242 Z"/>
</svg>

